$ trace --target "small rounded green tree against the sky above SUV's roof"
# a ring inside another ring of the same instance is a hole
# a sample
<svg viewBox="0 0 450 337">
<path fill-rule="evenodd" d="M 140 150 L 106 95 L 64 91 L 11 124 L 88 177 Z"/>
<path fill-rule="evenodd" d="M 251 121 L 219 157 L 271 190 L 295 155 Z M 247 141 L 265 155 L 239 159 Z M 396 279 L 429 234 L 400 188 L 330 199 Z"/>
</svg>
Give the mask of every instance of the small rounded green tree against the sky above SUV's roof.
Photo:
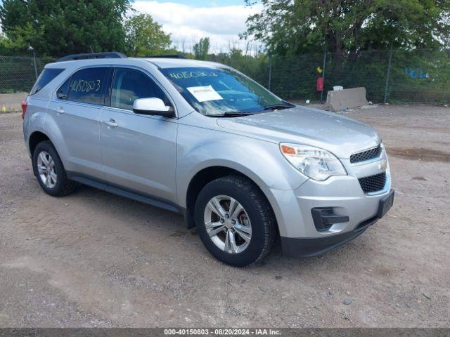
<svg viewBox="0 0 450 337">
<path fill-rule="evenodd" d="M 161 55 L 171 44 L 170 34 L 166 34 L 151 15 L 133 15 L 125 22 L 124 27 L 128 55 Z"/>
</svg>

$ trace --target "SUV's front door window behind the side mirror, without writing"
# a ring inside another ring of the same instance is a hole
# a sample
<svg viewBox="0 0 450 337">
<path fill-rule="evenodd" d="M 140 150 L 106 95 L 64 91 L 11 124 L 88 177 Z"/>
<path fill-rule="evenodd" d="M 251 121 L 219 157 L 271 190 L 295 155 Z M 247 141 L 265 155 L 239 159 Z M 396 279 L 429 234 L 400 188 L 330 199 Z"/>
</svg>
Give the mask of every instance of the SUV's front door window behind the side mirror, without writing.
<svg viewBox="0 0 450 337">
<path fill-rule="evenodd" d="M 153 79 L 139 70 L 116 68 L 111 92 L 111 107 L 133 110 L 138 98 L 160 98 L 169 104 L 165 93 Z"/>
</svg>

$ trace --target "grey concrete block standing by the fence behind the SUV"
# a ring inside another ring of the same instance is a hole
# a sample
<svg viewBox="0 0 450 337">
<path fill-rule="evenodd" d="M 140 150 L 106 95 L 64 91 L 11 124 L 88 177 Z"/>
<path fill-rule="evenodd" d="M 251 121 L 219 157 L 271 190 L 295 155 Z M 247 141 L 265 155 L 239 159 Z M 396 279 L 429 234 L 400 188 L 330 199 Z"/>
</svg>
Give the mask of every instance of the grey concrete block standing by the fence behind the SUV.
<svg viewBox="0 0 450 337">
<path fill-rule="evenodd" d="M 328 91 L 326 95 L 326 108 L 330 111 L 340 111 L 352 107 L 368 105 L 366 88 L 349 88 L 337 91 Z"/>
</svg>

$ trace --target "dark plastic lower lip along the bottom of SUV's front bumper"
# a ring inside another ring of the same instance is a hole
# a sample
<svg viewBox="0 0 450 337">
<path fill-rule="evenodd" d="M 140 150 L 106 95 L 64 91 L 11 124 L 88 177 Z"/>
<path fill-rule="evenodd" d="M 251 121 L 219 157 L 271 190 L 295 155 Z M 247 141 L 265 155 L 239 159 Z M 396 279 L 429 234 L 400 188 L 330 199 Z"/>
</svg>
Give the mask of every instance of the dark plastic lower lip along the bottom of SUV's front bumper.
<svg viewBox="0 0 450 337">
<path fill-rule="evenodd" d="M 351 230 L 349 232 L 314 238 L 281 237 L 283 254 L 286 256 L 295 257 L 316 256 L 349 242 L 350 240 L 359 236 L 359 234 L 362 234 L 365 230 L 367 230 L 368 227 L 376 223 L 378 219 L 382 218 L 392 206 L 393 198 L 394 190 L 390 190 L 390 193 L 387 194 L 385 199 L 380 200 L 380 205 L 378 207 L 376 216 L 373 216 L 368 220 L 364 220 L 363 222 L 359 223 L 359 225 L 356 226 L 354 230 Z"/>
</svg>

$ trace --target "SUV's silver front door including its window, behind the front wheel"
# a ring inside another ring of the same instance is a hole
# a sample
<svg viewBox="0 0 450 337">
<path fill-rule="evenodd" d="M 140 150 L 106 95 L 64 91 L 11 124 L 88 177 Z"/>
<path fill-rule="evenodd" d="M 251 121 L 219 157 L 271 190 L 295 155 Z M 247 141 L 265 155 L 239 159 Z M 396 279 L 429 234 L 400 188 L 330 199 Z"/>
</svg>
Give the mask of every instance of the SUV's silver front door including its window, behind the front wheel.
<svg viewBox="0 0 450 337">
<path fill-rule="evenodd" d="M 170 104 L 150 74 L 115 68 L 110 107 L 101 112 L 101 152 L 110 185 L 176 201 L 176 119 L 133 112 L 138 98 L 161 98 Z"/>
</svg>

